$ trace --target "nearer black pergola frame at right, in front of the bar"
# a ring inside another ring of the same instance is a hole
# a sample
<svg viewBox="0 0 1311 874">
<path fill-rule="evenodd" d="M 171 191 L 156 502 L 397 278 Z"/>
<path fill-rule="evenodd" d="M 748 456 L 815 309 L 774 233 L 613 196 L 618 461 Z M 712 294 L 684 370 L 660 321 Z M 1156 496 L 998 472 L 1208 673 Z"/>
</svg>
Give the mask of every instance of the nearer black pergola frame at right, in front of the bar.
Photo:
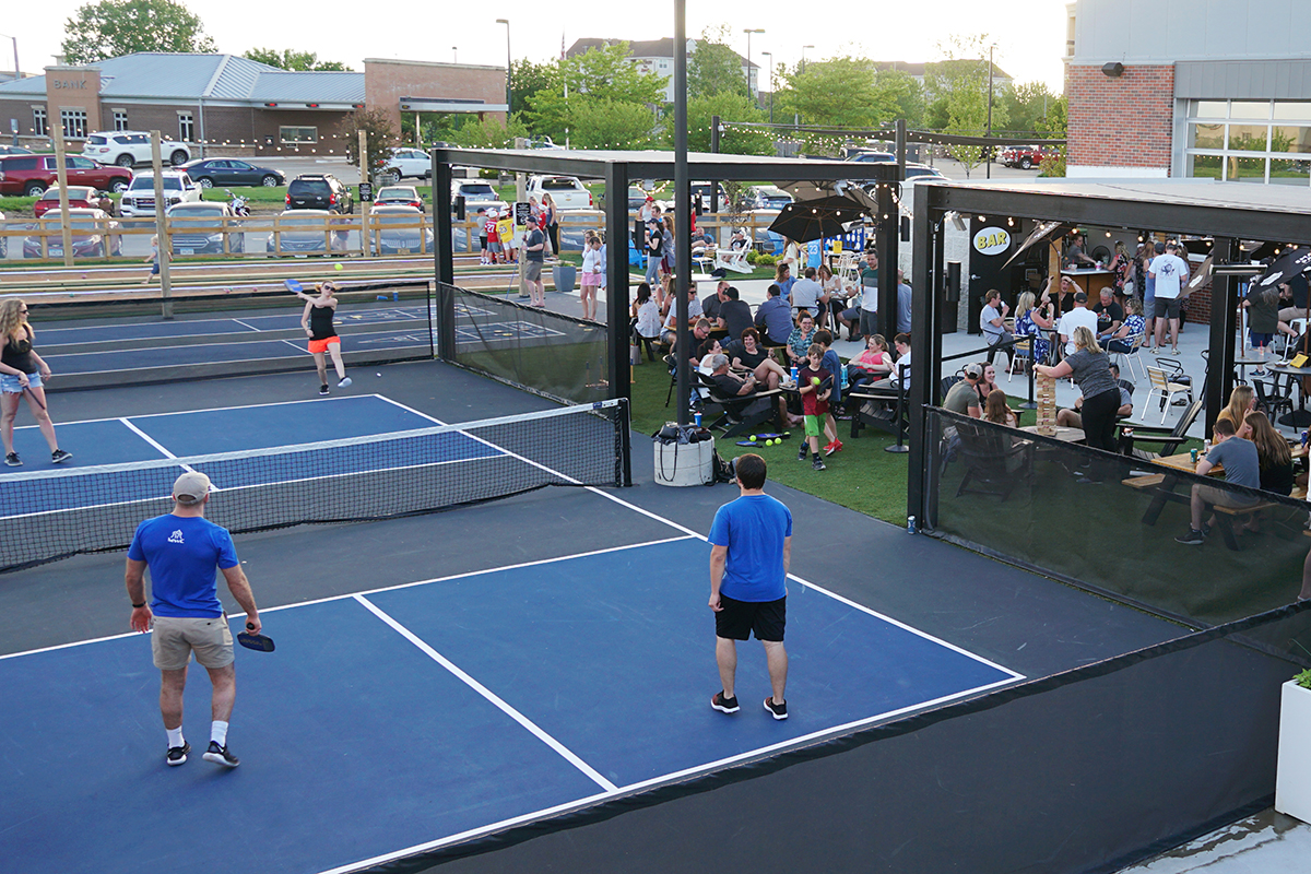
<svg viewBox="0 0 1311 874">
<path fill-rule="evenodd" d="M 1311 245 L 1311 198 L 1303 187 L 1218 183 L 1196 180 L 1059 180 L 1051 183 L 920 183 L 912 219 L 910 470 L 907 515 L 929 520 L 926 446 L 929 405 L 940 404 L 941 334 L 945 305 L 943 223 L 948 212 L 1061 221 L 1099 228 L 1150 229 L 1211 237 L 1217 263 L 1243 261 L 1244 240 Z M 1214 275 L 1211 284 L 1210 376 L 1206 381 L 1206 428 L 1223 409 L 1232 388 L 1236 290 L 1232 275 Z M 970 294 L 979 294 L 971 288 Z M 953 307 L 956 304 L 952 304 Z"/>
</svg>

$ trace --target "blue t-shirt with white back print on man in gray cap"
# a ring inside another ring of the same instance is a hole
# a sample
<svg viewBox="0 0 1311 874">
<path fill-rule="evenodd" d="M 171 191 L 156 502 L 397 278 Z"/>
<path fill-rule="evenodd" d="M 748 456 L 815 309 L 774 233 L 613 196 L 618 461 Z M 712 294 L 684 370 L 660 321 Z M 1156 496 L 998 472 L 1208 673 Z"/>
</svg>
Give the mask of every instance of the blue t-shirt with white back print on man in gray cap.
<svg viewBox="0 0 1311 874">
<path fill-rule="evenodd" d="M 227 528 L 173 514 L 136 525 L 127 557 L 151 569 L 151 611 L 173 618 L 223 616 L 214 569 L 240 563 Z"/>
</svg>

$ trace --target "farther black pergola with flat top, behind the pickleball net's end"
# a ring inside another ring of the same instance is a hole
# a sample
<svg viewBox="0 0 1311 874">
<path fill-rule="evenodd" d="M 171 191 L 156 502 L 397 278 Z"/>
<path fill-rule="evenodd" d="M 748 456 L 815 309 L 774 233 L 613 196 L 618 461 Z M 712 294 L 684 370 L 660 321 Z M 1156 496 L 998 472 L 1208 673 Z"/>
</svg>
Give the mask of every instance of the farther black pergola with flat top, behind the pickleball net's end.
<svg viewBox="0 0 1311 874">
<path fill-rule="evenodd" d="M 442 283 L 447 286 L 455 284 L 455 253 L 451 245 L 451 165 L 486 168 L 510 173 L 577 176 L 579 178 L 599 178 L 606 182 L 604 225 L 606 238 L 610 241 L 608 263 L 606 265 L 610 275 L 608 299 L 606 301 L 610 337 L 607 377 L 610 380 L 611 397 L 628 397 L 631 389 L 628 362 L 628 186 L 633 181 L 673 180 L 674 152 L 434 148 L 431 155 L 433 216 L 435 229 L 433 257 L 439 283 L 438 288 L 442 288 Z M 817 186 L 822 186 L 838 181 L 895 182 L 902 177 L 901 165 L 894 162 L 868 164 L 704 152 L 694 152 L 687 157 L 691 178 L 708 182 L 815 182 Z M 880 214 L 894 218 L 894 220 L 880 224 L 878 257 L 881 263 L 891 266 L 888 275 L 895 276 L 898 245 L 897 206 L 893 199 L 891 186 L 881 185 L 878 191 Z M 686 208 L 684 204 L 679 206 Z M 687 225 L 680 223 L 678 227 Z M 682 254 L 679 256 L 679 262 L 691 266 L 691 259 L 684 259 Z M 686 273 L 688 276 L 691 275 L 691 270 Z M 686 279 L 680 278 L 680 288 L 686 288 L 682 284 L 683 282 Z M 884 282 L 880 286 L 880 313 L 886 318 L 893 318 L 891 324 L 895 325 L 897 283 Z M 679 295 L 676 303 L 682 314 L 679 318 L 678 349 L 686 351 L 690 342 L 687 317 L 683 309 L 686 307 L 686 295 Z M 440 332 L 437 343 L 438 356 L 454 360 L 454 297 L 439 291 L 438 309 L 440 312 Z M 687 397 L 690 390 L 688 362 L 686 355 L 680 355 L 679 359 L 678 392 L 679 397 Z M 687 419 L 687 410 L 684 408 L 684 404 L 679 404 L 680 422 L 686 422 Z"/>
</svg>

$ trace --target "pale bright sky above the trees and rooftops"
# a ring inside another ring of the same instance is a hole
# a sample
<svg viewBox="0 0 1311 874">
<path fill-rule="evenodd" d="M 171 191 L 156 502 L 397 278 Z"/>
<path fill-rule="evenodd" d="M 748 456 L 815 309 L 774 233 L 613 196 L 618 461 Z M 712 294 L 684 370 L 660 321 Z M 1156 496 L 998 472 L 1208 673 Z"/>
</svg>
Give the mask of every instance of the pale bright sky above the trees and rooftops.
<svg viewBox="0 0 1311 874">
<path fill-rule="evenodd" d="M 83 0 L 45 0 L 12 4 L 0 21 L 0 34 L 17 38 L 18 62 L 25 72 L 39 73 L 52 64 L 64 38 L 64 22 Z M 240 55 L 254 48 L 296 48 L 341 60 L 362 71 L 364 58 L 400 58 L 468 64 L 505 66 L 505 25 L 510 20 L 514 58 L 544 62 L 560 56 L 560 42 L 576 39 L 658 39 L 674 35 L 674 4 L 561 3 L 558 0 L 499 0 L 484 7 L 461 0 L 358 8 L 354 4 L 321 7 L 313 14 L 303 3 L 223 0 L 185 5 L 205 22 L 219 51 Z M 751 37 L 751 59 L 772 52 L 775 64 L 796 64 L 802 46 L 808 59 L 861 55 L 876 60 L 924 62 L 943 56 L 941 45 L 953 35 L 987 34 L 996 45 L 995 62 L 1016 83 L 1042 81 L 1059 93 L 1065 54 L 1063 0 L 1029 0 L 998 5 L 978 0 L 924 0 L 923 3 L 834 3 L 831 9 L 808 14 L 791 0 L 754 0 L 749 4 L 699 0 L 687 4 L 687 34 L 699 37 L 711 26 L 728 24 L 732 46 L 746 55 L 746 28 L 763 28 Z M 366 12 L 361 13 L 361 9 Z M 362 28 L 355 18 L 376 10 L 392 22 Z M 416 10 L 418 14 L 416 16 Z M 0 41 L 0 69 L 13 67 L 13 45 Z M 764 83 L 762 83 L 764 85 Z"/>
</svg>

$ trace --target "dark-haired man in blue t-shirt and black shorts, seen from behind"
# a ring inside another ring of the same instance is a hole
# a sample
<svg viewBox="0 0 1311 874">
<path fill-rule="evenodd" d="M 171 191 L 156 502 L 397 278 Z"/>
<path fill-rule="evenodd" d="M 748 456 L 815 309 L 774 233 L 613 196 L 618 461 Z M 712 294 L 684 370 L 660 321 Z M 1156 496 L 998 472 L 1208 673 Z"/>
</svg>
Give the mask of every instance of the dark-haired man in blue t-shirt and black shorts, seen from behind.
<svg viewBox="0 0 1311 874">
<path fill-rule="evenodd" d="M 714 660 L 724 689 L 711 698 L 720 713 L 737 713 L 734 691 L 737 642 L 755 633 L 764 645 L 773 694 L 764 709 L 775 719 L 788 718 L 784 692 L 788 651 L 783 646 L 787 621 L 787 577 L 792 558 L 792 512 L 764 494 L 764 459 L 738 456 L 737 501 L 718 508 L 711 524 L 711 609 L 714 611 Z"/>
</svg>

